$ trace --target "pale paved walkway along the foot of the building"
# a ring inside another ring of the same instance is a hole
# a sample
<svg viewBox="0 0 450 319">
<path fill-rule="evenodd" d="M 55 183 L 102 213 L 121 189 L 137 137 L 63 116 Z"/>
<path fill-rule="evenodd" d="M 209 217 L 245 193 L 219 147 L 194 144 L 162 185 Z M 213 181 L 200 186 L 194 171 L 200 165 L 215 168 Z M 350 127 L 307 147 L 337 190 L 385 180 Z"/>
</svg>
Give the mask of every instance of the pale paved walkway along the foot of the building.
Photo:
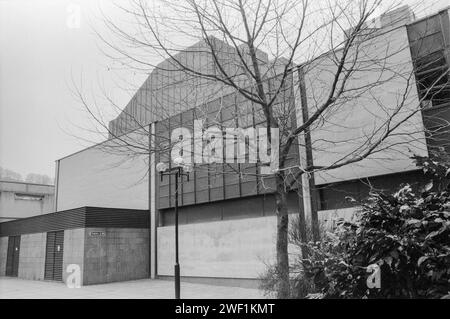
<svg viewBox="0 0 450 319">
<path fill-rule="evenodd" d="M 173 290 L 173 281 L 166 280 L 143 279 L 71 289 L 67 288 L 64 283 L 0 277 L 0 299 L 170 299 L 174 297 Z M 249 299 L 263 298 L 263 294 L 257 289 L 181 282 L 181 297 L 195 299 Z"/>
</svg>

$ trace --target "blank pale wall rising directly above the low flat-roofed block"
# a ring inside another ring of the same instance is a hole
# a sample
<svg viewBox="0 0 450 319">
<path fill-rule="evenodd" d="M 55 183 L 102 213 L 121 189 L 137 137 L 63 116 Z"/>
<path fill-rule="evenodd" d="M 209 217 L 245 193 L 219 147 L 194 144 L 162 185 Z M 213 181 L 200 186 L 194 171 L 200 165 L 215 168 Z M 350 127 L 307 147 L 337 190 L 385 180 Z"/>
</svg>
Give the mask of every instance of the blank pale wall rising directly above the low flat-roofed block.
<svg viewBox="0 0 450 319">
<path fill-rule="evenodd" d="M 98 145 L 60 160 L 58 211 L 81 206 L 148 209 L 148 155 L 112 150 Z"/>
</svg>

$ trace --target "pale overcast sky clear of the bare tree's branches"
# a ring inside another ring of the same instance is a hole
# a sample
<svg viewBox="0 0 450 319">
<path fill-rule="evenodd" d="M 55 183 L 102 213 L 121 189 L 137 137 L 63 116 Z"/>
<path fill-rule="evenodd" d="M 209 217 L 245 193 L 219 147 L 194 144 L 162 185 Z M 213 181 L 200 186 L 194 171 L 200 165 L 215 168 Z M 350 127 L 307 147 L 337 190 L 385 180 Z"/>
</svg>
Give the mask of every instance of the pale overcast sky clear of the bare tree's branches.
<svg viewBox="0 0 450 319">
<path fill-rule="evenodd" d="M 79 25 L 71 19 L 78 8 L 74 4 L 81 9 Z M 447 4 L 437 0 L 432 11 Z M 56 159 L 89 144 L 75 136 L 99 141 L 84 129 L 88 118 L 71 92 L 72 79 L 82 78 L 94 94 L 103 83 L 124 106 L 130 93 L 117 89 L 117 81 L 136 86 L 143 82 L 142 74 L 108 71 L 110 60 L 98 50 L 92 32 L 99 7 L 109 13 L 109 4 L 102 0 L 0 0 L 3 168 L 23 177 L 30 172 L 54 176 Z"/>
</svg>

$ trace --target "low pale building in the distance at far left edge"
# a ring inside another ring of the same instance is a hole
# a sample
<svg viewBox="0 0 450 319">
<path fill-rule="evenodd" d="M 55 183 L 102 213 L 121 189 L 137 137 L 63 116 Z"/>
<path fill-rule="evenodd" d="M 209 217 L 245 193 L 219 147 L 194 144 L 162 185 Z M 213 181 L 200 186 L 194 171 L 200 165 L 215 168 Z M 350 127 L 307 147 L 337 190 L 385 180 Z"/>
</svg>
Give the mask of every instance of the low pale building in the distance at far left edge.
<svg viewBox="0 0 450 319">
<path fill-rule="evenodd" d="M 0 222 L 54 211 L 55 187 L 0 180 Z"/>
</svg>

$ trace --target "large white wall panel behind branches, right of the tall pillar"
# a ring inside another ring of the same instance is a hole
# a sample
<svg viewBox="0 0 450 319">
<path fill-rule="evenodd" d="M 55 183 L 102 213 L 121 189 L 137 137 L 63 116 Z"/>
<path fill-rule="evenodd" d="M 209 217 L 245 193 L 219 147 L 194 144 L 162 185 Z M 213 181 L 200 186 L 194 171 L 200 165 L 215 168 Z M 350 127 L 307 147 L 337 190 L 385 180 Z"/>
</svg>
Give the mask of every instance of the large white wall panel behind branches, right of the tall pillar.
<svg viewBox="0 0 450 319">
<path fill-rule="evenodd" d="M 415 112 L 419 99 L 414 77 L 410 77 L 412 62 L 406 27 L 374 38 L 361 47 L 359 54 L 361 60 L 388 58 L 383 61 L 383 72 L 381 67 L 360 65 L 360 68 L 367 70 L 354 74 L 347 88 L 361 87 L 377 82 L 377 79 L 382 84 L 323 113 L 323 117 L 311 127 L 314 165 L 329 166 L 351 159 L 353 154 L 363 154 L 368 149 L 363 144 L 368 141 L 367 137 L 375 135 L 373 141 L 378 140 L 387 128 L 384 124 L 386 120 L 394 115 L 390 127 L 407 120 L 368 158 L 317 173 L 318 185 L 414 170 L 416 167 L 410 156 L 427 155 L 422 116 L 420 111 Z M 328 96 L 335 69 L 330 56 L 324 56 L 306 67 L 305 85 L 310 116 Z M 394 73 L 398 76 L 393 77 Z M 404 106 L 397 112 L 404 94 Z M 301 104 L 297 105 L 298 123 L 301 123 Z M 370 147 L 372 144 L 367 145 Z"/>
</svg>

